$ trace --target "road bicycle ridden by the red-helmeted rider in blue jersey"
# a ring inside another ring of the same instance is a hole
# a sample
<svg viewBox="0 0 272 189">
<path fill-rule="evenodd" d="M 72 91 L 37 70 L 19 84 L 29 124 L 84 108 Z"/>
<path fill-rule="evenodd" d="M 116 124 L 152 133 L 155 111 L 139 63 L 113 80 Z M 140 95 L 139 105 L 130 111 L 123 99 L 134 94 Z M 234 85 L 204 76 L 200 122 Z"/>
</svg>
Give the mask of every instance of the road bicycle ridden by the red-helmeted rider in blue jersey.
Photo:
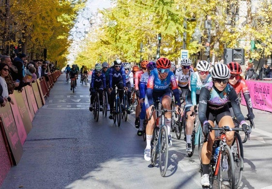
<svg viewBox="0 0 272 189">
<path fill-rule="evenodd" d="M 156 117 L 159 116 L 161 112 L 161 124 L 159 127 L 155 126 L 151 139 L 151 165 L 155 166 L 157 161 L 157 156 L 159 154 L 159 167 L 160 173 L 162 176 L 165 176 L 167 165 L 168 165 L 168 131 L 165 125 L 165 113 L 173 112 L 175 110 L 167 110 L 167 109 L 158 109 L 158 102 L 155 103 L 155 106 L 151 108 L 151 115 L 154 111 L 156 111 Z M 151 115 L 148 121 L 151 119 Z"/>
</svg>

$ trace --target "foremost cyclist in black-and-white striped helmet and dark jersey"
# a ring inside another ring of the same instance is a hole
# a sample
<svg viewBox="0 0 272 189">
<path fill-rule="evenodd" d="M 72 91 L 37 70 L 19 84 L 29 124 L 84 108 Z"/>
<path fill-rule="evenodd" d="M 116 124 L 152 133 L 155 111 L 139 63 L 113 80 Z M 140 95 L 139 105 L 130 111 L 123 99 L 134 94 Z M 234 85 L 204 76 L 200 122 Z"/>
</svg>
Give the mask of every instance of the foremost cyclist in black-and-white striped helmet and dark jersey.
<svg viewBox="0 0 272 189">
<path fill-rule="evenodd" d="M 227 102 L 230 101 L 233 112 L 237 120 L 242 125 L 243 131 L 251 132 L 251 128 L 247 125 L 242 115 L 238 96 L 233 87 L 228 84 L 230 76 L 229 69 L 225 64 L 216 64 L 211 72 L 212 82 L 207 83 L 200 90 L 199 104 L 198 104 L 198 118 L 203 123 L 202 131 L 206 136 L 209 133 L 210 127 L 214 127 L 214 120 L 219 127 L 229 126 L 234 127 L 232 117 L 229 112 Z M 233 141 L 233 131 L 229 131 L 227 136 L 227 144 L 231 145 Z M 214 141 L 215 133 L 212 132 L 209 135 L 208 142 L 203 144 L 201 151 L 201 185 L 203 187 L 209 187 L 209 164 L 212 153 L 212 145 Z"/>
</svg>

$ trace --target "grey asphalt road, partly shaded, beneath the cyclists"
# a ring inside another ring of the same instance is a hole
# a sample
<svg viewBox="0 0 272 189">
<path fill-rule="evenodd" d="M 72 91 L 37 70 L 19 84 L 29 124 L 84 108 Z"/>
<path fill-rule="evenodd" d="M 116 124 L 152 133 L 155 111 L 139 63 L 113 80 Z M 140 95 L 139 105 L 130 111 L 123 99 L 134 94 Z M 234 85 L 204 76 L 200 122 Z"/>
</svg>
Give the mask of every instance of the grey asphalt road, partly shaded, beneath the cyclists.
<svg viewBox="0 0 272 189">
<path fill-rule="evenodd" d="M 188 158 L 185 142 L 173 138 L 161 177 L 159 167 L 143 158 L 145 142 L 136 135 L 134 113 L 120 127 L 102 113 L 95 122 L 90 85 L 78 84 L 75 93 L 69 85 L 62 74 L 35 115 L 22 159 L 0 189 L 201 189 L 197 150 Z M 247 113 L 244 106 L 242 112 Z M 272 114 L 254 113 L 240 188 L 272 189 Z"/>
</svg>

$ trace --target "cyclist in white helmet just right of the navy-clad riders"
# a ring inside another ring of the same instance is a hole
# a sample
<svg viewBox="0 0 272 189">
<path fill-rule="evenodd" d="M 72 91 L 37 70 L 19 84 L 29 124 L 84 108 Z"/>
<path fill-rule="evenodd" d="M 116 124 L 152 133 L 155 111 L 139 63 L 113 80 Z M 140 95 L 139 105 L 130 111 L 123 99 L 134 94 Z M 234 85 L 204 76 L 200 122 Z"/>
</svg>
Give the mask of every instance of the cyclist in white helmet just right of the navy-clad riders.
<svg viewBox="0 0 272 189">
<path fill-rule="evenodd" d="M 133 73 L 130 71 L 130 68 L 131 68 L 130 63 L 128 63 L 128 62 L 123 63 L 123 67 L 124 67 L 125 73 L 126 73 L 126 87 L 128 88 L 128 90 L 127 90 L 127 98 L 128 98 L 127 113 L 130 114 L 131 113 L 131 109 L 130 109 L 131 88 L 134 87 Z"/>
</svg>

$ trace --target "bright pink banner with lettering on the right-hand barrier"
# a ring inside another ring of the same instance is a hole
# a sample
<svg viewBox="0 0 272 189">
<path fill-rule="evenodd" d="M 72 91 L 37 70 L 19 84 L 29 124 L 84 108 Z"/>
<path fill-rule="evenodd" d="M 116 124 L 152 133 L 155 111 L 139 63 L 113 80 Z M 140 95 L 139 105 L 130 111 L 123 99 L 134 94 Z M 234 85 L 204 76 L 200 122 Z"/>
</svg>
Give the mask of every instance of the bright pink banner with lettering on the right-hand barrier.
<svg viewBox="0 0 272 189">
<path fill-rule="evenodd" d="M 253 108 L 272 112 L 272 82 L 245 80 Z M 242 95 L 242 105 L 246 105 Z"/>
</svg>

